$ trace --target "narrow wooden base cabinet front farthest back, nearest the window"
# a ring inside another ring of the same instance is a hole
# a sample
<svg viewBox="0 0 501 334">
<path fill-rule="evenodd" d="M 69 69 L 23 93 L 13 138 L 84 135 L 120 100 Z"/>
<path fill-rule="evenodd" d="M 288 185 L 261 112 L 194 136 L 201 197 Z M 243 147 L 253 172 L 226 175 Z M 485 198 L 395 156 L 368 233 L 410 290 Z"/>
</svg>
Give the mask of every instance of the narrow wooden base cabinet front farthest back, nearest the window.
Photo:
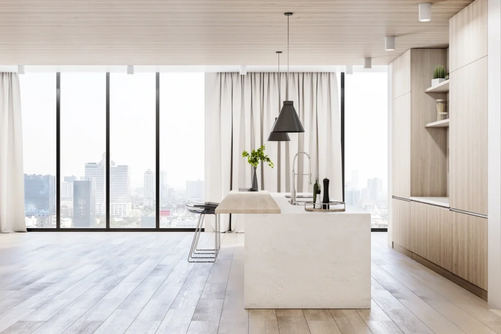
<svg viewBox="0 0 501 334">
<path fill-rule="evenodd" d="M 392 199 L 393 243 L 412 251 L 410 231 L 410 201 Z"/>
</svg>

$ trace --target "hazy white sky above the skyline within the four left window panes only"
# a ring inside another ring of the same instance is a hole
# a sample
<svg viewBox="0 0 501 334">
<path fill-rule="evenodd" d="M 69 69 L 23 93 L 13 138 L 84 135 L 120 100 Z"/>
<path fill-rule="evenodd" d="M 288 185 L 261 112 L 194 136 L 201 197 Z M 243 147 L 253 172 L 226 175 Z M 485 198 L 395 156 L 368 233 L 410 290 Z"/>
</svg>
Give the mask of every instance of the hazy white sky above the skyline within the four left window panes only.
<svg viewBox="0 0 501 334">
<path fill-rule="evenodd" d="M 24 170 L 56 174 L 56 75 L 21 77 Z M 203 180 L 204 74 L 160 75 L 160 169 L 184 188 Z M 61 74 L 61 177 L 84 176 L 106 150 L 106 75 Z M 202 149 L 200 150 L 200 147 Z M 131 186 L 155 170 L 155 74 L 110 75 L 110 154 L 130 166 Z"/>
</svg>

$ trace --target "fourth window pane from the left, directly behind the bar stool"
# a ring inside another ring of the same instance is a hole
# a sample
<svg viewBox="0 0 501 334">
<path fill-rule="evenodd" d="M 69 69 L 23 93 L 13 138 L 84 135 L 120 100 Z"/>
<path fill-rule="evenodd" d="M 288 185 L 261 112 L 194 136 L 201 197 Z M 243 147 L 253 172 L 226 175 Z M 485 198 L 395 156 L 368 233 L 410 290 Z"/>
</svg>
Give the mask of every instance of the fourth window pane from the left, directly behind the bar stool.
<svg viewBox="0 0 501 334">
<path fill-rule="evenodd" d="M 160 227 L 194 228 L 204 200 L 204 74 L 160 74 Z"/>
</svg>

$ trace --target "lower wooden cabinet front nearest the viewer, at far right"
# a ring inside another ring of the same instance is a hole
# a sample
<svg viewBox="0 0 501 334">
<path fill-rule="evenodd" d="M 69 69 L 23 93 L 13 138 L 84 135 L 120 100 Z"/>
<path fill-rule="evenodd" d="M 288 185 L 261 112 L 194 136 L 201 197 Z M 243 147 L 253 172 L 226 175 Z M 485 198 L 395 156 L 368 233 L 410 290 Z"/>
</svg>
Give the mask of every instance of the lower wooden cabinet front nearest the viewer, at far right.
<svg viewBox="0 0 501 334">
<path fill-rule="evenodd" d="M 487 290 L 487 219 L 451 211 L 453 270 Z"/>
</svg>

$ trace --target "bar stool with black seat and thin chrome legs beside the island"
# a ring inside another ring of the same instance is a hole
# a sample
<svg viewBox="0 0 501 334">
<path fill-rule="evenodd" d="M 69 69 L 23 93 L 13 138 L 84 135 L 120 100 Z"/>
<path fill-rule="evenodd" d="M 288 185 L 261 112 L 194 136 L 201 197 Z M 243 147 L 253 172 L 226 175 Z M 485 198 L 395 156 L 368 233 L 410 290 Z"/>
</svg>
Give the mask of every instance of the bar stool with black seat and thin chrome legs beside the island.
<svg viewBox="0 0 501 334">
<path fill-rule="evenodd" d="M 221 249 L 219 215 L 215 213 L 215 209 L 218 205 L 219 203 L 215 202 L 191 202 L 190 204 L 186 204 L 186 210 L 191 213 L 200 215 L 198 217 L 195 234 L 193 235 L 193 241 L 191 242 L 190 252 L 188 254 L 188 262 L 215 262 L 217 254 Z M 202 231 L 205 215 L 214 215 L 215 217 L 214 249 L 198 248 L 198 241 L 200 239 L 200 233 Z"/>
</svg>

